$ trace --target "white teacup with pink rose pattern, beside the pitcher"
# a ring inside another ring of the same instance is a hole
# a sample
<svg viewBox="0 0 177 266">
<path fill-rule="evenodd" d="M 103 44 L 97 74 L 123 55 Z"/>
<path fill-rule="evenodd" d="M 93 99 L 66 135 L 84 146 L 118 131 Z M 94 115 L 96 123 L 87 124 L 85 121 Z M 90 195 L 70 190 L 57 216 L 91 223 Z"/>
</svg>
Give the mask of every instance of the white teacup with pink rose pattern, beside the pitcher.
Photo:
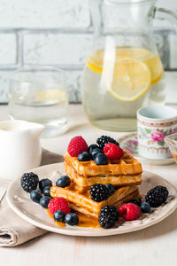
<svg viewBox="0 0 177 266">
<path fill-rule="evenodd" d="M 150 106 L 137 111 L 138 150 L 142 157 L 165 159 L 172 157 L 165 137 L 177 133 L 177 109 Z"/>
</svg>

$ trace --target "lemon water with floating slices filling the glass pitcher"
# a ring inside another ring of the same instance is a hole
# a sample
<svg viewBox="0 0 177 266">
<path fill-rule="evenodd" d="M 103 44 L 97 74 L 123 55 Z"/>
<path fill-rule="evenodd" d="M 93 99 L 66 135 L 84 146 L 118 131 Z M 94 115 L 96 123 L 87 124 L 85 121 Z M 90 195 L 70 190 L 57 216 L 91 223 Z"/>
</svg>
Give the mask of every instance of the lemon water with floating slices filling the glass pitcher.
<svg viewBox="0 0 177 266">
<path fill-rule="evenodd" d="M 137 47 L 94 51 L 83 74 L 83 104 L 90 121 L 104 129 L 135 129 L 136 111 L 165 103 L 158 54 Z"/>
</svg>

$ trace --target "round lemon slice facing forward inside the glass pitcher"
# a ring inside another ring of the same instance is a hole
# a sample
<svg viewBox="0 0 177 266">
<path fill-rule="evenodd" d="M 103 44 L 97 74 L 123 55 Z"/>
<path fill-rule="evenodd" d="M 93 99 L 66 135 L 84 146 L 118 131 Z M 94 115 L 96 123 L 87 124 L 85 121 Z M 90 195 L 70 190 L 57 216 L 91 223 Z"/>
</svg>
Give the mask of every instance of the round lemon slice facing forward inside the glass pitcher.
<svg viewBox="0 0 177 266">
<path fill-rule="evenodd" d="M 107 66 L 106 66 L 107 65 Z M 116 62 L 112 76 L 109 64 L 103 70 L 107 90 L 121 101 L 135 101 L 150 89 L 150 70 L 142 61 L 121 59 Z"/>
</svg>

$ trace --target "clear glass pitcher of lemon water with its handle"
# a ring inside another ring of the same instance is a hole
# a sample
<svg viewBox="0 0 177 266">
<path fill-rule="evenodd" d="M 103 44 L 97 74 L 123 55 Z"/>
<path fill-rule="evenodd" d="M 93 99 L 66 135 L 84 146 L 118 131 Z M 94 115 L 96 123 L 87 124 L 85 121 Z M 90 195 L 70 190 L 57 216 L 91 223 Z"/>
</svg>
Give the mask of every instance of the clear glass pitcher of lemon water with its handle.
<svg viewBox="0 0 177 266">
<path fill-rule="evenodd" d="M 89 121 L 114 131 L 136 129 L 136 111 L 165 104 L 165 77 L 152 20 L 175 12 L 155 0 L 90 0 L 94 43 L 82 76 L 82 104 Z"/>
</svg>

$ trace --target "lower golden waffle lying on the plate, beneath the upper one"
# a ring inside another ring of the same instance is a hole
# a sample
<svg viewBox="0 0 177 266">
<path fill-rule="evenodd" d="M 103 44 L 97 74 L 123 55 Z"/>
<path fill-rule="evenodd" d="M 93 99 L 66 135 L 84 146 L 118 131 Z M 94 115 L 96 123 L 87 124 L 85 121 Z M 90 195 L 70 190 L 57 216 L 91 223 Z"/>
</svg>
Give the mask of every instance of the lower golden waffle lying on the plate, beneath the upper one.
<svg viewBox="0 0 177 266">
<path fill-rule="evenodd" d="M 68 200 L 70 207 L 85 215 L 91 215 L 98 218 L 99 212 L 104 206 L 114 205 L 119 207 L 122 203 L 132 199 L 140 199 L 140 193 L 137 186 L 125 186 L 115 190 L 113 194 L 101 202 L 90 199 L 89 189 L 79 192 L 77 185 L 71 184 L 69 187 L 62 188 L 56 185 L 50 188 L 52 198 L 64 197 Z"/>
</svg>

